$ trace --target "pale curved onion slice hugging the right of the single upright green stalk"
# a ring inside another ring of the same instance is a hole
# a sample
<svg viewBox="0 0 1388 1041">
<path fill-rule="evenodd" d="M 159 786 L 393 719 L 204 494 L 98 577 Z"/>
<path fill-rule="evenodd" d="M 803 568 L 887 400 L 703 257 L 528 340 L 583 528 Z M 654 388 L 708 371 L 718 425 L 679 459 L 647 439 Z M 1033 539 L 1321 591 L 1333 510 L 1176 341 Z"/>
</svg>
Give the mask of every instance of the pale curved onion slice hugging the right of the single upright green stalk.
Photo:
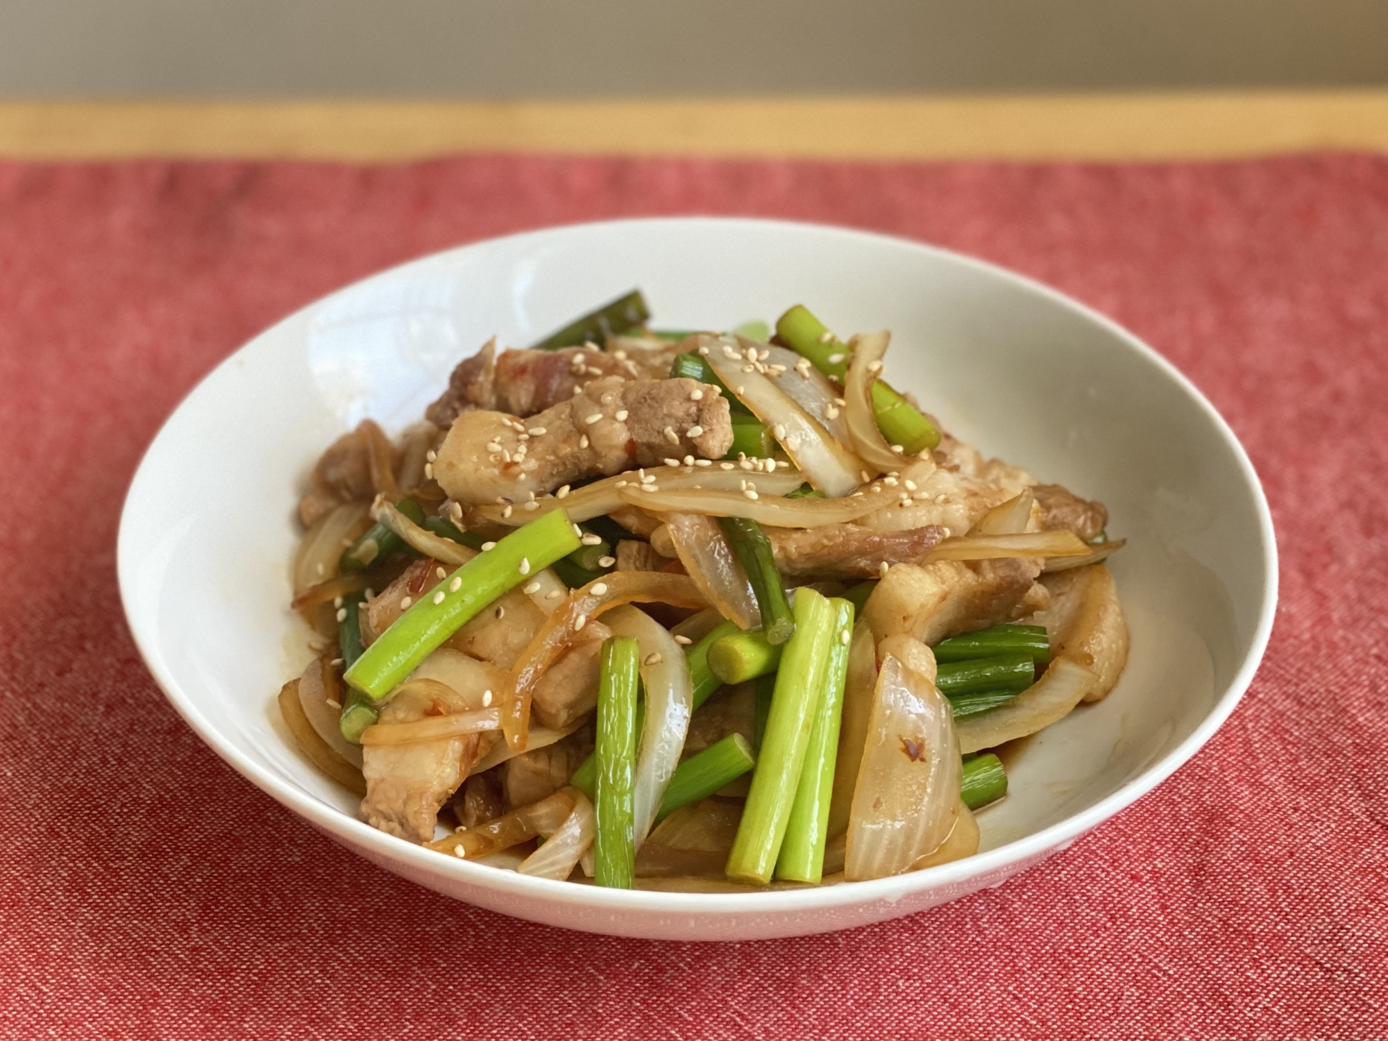
<svg viewBox="0 0 1388 1041">
<path fill-rule="evenodd" d="M 630 636 L 641 647 L 641 683 L 645 687 L 645 726 L 636 752 L 636 809 L 632 837 L 641 848 L 665 786 L 684 751 L 684 736 L 694 711 L 694 682 L 684 648 L 669 630 L 640 608 L 619 607 L 602 618 L 615 636 Z"/>
</svg>

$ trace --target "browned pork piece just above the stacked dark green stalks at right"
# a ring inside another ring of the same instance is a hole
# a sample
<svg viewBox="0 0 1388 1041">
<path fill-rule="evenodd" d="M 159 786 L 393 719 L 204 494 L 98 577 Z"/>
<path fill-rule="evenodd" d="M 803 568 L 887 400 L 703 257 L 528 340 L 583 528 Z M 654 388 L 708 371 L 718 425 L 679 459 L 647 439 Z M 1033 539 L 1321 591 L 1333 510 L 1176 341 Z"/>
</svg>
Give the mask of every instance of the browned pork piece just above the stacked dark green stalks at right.
<svg viewBox="0 0 1388 1041">
<path fill-rule="evenodd" d="M 867 597 L 863 619 L 879 641 L 904 634 L 936 644 L 1044 607 L 1040 573 L 1041 561 L 1029 557 L 898 564 Z"/>
</svg>

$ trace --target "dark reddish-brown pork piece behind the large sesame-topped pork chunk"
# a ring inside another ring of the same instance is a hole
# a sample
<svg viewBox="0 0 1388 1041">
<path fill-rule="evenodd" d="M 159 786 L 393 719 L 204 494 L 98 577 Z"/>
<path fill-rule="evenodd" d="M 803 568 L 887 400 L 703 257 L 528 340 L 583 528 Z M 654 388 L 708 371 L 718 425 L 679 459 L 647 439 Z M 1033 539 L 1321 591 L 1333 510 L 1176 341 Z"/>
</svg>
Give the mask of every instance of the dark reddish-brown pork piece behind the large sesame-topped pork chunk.
<svg viewBox="0 0 1388 1041">
<path fill-rule="evenodd" d="M 593 380 L 661 379 L 675 358 L 672 346 L 658 341 L 638 348 L 630 340 L 611 353 L 594 346 L 558 351 L 512 348 L 497 354 L 489 341 L 477 354 L 464 358 L 448 378 L 448 389 L 425 411 L 425 416 L 447 429 L 464 412 L 486 409 L 530 416 L 573 397 L 576 387 Z M 640 341 L 645 343 L 645 341 Z"/>
</svg>

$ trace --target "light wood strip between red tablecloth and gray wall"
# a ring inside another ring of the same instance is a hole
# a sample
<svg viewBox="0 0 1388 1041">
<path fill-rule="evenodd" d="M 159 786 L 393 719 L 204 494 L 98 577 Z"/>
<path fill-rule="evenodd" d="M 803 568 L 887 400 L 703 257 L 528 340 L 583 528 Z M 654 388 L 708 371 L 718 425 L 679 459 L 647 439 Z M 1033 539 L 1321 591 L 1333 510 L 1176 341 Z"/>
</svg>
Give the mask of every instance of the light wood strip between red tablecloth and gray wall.
<svg viewBox="0 0 1388 1041">
<path fill-rule="evenodd" d="M 477 151 L 1167 160 L 1388 151 L 1388 90 L 612 101 L 0 101 L 0 157 Z"/>
</svg>

